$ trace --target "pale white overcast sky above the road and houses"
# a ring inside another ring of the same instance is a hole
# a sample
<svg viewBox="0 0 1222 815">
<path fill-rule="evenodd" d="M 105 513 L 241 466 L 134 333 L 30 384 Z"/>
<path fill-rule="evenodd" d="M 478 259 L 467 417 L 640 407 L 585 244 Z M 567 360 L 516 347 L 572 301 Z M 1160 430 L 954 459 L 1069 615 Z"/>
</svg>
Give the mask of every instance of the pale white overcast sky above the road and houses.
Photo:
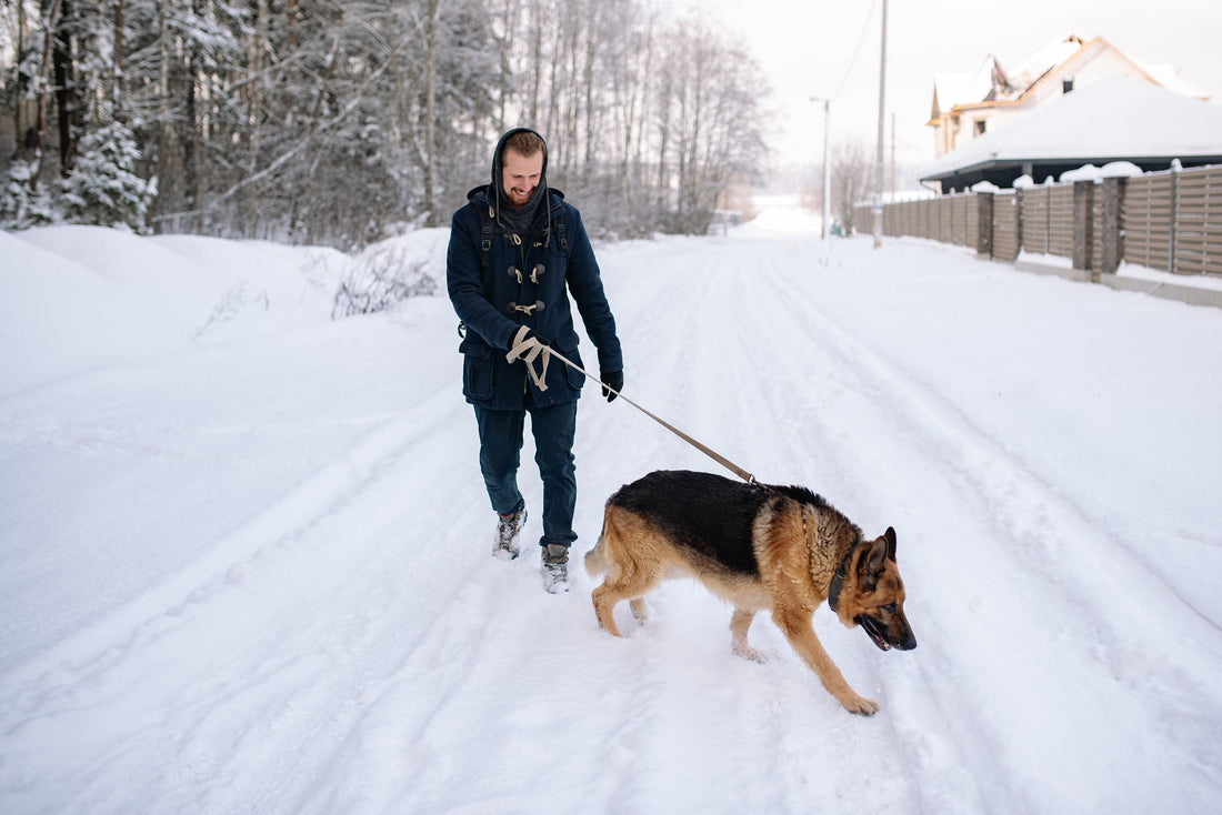
<svg viewBox="0 0 1222 815">
<path fill-rule="evenodd" d="M 822 105 L 810 97 L 835 97 L 833 144 L 875 144 L 882 0 L 672 1 L 745 39 L 774 87 L 772 144 L 781 155 L 822 159 Z M 989 54 L 1017 66 L 1070 33 L 1103 37 L 1144 62 L 1176 65 L 1222 101 L 1222 0 L 888 0 L 888 150 L 893 112 L 897 160 L 932 160 L 932 128 L 924 123 L 935 75 L 974 71 Z"/>
</svg>

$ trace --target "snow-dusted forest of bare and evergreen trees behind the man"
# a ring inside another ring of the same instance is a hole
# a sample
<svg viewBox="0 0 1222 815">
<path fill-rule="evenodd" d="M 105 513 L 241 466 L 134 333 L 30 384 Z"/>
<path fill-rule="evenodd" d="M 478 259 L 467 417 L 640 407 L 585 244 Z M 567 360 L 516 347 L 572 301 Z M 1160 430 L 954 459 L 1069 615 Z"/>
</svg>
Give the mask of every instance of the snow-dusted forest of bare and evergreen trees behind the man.
<svg viewBox="0 0 1222 815">
<path fill-rule="evenodd" d="M 447 226 L 525 125 L 599 237 L 701 233 L 767 83 L 651 0 L 0 0 L 0 226 L 356 249 Z"/>
</svg>

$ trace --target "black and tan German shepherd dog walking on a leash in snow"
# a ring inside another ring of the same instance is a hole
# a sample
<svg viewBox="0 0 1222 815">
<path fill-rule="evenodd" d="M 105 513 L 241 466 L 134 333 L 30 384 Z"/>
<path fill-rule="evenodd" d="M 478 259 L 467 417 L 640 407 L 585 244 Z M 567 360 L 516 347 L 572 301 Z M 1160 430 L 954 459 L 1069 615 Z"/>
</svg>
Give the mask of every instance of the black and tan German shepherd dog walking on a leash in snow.
<svg viewBox="0 0 1222 815">
<path fill-rule="evenodd" d="M 844 681 L 810 618 L 827 600 L 847 628 L 860 626 L 884 651 L 916 648 L 904 617 L 896 530 L 865 540 L 862 530 L 802 486 L 733 481 L 686 470 L 650 473 L 607 499 L 602 534 L 585 555 L 599 626 L 620 637 L 613 611 L 629 600 L 644 622 L 643 595 L 664 578 L 694 577 L 734 607 L 734 654 L 763 661 L 747 644 L 755 613 L 769 610 L 824 687 L 853 714 L 879 705 Z"/>
</svg>

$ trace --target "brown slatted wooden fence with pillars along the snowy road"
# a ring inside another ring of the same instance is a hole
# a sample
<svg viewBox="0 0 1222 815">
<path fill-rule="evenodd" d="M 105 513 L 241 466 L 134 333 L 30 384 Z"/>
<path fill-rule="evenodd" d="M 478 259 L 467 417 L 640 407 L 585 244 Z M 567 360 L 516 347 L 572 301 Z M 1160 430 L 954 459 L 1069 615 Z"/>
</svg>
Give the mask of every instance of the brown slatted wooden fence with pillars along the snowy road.
<svg viewBox="0 0 1222 815">
<path fill-rule="evenodd" d="M 874 230 L 869 205 L 854 226 Z M 1121 261 L 1183 275 L 1222 275 L 1222 165 L 960 193 L 884 205 L 882 233 L 975 248 L 981 257 L 1069 258 L 1114 274 Z"/>
</svg>

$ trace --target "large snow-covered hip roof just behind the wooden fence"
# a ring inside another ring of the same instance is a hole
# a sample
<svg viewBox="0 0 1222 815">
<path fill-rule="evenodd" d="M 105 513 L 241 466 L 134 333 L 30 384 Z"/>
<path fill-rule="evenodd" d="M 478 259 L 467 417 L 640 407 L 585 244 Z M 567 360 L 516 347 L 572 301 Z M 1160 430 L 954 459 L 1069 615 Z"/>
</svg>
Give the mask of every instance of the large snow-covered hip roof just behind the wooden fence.
<svg viewBox="0 0 1222 815">
<path fill-rule="evenodd" d="M 1222 161 L 1222 106 L 1130 77 L 1073 90 L 951 150 L 921 181 L 1034 164 Z"/>
</svg>

